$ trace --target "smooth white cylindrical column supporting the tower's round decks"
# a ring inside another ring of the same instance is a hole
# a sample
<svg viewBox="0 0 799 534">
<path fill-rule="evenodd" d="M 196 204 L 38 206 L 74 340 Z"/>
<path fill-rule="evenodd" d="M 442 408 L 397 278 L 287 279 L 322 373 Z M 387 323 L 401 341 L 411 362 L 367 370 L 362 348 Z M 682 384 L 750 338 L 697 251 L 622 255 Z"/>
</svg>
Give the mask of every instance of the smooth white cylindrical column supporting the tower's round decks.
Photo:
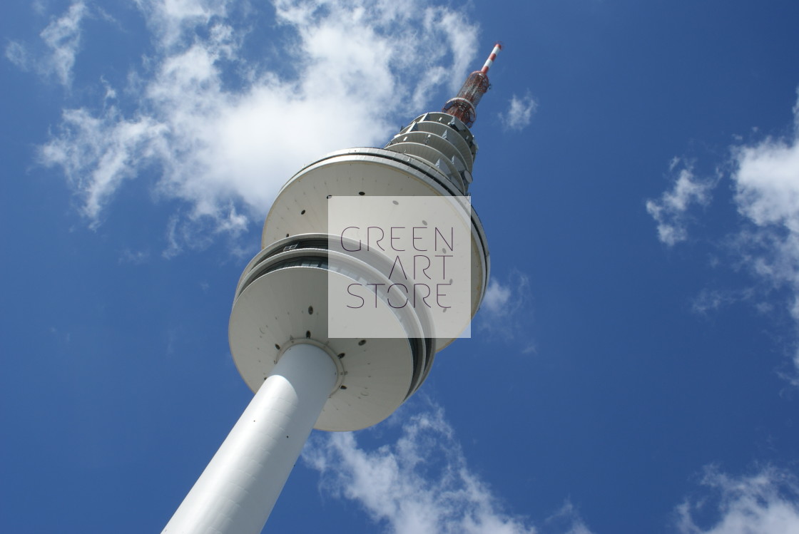
<svg viewBox="0 0 799 534">
<path fill-rule="evenodd" d="M 162 534 L 258 534 L 336 378 L 327 352 L 289 346 Z"/>
</svg>

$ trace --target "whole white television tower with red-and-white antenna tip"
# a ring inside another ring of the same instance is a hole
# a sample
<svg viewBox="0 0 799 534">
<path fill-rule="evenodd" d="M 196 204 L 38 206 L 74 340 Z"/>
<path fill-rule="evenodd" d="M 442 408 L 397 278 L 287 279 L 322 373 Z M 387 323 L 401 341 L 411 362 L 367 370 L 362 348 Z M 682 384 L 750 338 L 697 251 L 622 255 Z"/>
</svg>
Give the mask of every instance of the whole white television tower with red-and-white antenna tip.
<svg viewBox="0 0 799 534">
<path fill-rule="evenodd" d="M 384 148 L 332 152 L 297 172 L 268 212 L 261 250 L 244 268 L 230 314 L 233 361 L 255 393 L 163 533 L 257 534 L 311 429 L 356 430 L 391 415 L 427 378 L 437 350 L 424 307 L 377 299 L 376 313 L 398 337 L 328 336 L 328 281 L 385 279 L 386 257 L 334 251 L 333 196 L 469 196 L 477 144 L 469 128 L 489 88 L 488 69 L 471 73 L 442 111 L 424 113 Z M 395 201 L 394 204 L 397 204 Z M 473 317 L 489 275 L 483 225 L 469 211 Z M 332 278 L 330 278 L 332 277 Z"/>
</svg>

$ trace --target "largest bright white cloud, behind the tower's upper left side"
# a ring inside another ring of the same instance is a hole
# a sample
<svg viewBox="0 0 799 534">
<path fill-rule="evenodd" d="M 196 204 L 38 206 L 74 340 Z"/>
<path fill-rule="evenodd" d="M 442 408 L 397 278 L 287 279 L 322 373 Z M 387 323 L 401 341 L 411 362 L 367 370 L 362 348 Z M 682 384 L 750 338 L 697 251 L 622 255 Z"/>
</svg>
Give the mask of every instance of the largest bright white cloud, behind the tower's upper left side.
<svg viewBox="0 0 799 534">
<path fill-rule="evenodd" d="M 125 180 L 154 174 L 157 198 L 189 206 L 167 255 L 197 225 L 238 231 L 260 220 L 312 157 L 384 144 L 397 117 L 426 110 L 431 89 L 457 86 L 475 53 L 476 28 L 460 10 L 421 0 L 276 0 L 276 21 L 293 37 L 272 43 L 275 66 L 248 57 L 247 31 L 229 20 L 227 2 L 137 6 L 160 55 L 125 91 L 104 79 L 99 113 L 66 109 L 41 160 L 63 169 L 93 225 Z M 107 105 L 117 94 L 128 100 Z"/>
</svg>

